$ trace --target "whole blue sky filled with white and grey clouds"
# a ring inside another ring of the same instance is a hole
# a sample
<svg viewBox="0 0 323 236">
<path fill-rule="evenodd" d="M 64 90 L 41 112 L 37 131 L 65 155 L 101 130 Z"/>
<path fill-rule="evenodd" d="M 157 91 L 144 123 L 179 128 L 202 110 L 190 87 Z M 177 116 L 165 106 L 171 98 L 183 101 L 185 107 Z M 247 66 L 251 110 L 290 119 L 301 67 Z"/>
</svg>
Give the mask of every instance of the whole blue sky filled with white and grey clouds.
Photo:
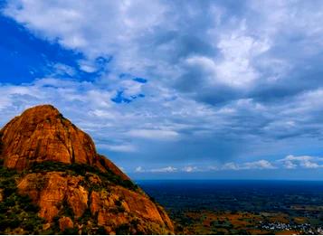
<svg viewBox="0 0 323 236">
<path fill-rule="evenodd" d="M 322 1 L 0 0 L 0 127 L 52 104 L 135 179 L 323 180 Z"/>
</svg>

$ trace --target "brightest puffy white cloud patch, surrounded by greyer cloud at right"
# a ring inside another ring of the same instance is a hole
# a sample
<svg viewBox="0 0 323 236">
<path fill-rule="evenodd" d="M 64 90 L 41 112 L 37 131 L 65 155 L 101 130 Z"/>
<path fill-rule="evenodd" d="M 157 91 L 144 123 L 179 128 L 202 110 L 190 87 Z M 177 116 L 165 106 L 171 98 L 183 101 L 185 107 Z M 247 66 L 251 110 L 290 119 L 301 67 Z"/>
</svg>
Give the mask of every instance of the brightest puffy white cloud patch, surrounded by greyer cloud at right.
<svg viewBox="0 0 323 236">
<path fill-rule="evenodd" d="M 233 33 L 223 33 L 217 44 L 221 58 L 194 55 L 185 60 L 189 67 L 204 71 L 204 83 L 210 86 L 223 84 L 237 89 L 248 89 L 261 74 L 252 65 L 252 60 L 270 49 L 270 43 L 244 35 L 237 29 Z"/>
</svg>

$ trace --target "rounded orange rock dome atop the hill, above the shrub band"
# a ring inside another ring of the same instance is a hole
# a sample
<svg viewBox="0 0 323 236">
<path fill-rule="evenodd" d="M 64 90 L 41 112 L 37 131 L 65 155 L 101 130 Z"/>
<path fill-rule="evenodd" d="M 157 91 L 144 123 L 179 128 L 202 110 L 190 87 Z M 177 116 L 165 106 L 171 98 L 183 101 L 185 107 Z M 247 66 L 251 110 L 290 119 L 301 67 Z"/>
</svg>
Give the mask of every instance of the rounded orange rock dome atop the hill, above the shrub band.
<svg viewBox="0 0 323 236">
<path fill-rule="evenodd" d="M 5 166 L 24 170 L 35 162 L 94 165 L 109 169 L 123 179 L 128 176 L 95 150 L 89 135 L 51 105 L 37 106 L 11 120 L 0 131 L 0 158 Z"/>
</svg>

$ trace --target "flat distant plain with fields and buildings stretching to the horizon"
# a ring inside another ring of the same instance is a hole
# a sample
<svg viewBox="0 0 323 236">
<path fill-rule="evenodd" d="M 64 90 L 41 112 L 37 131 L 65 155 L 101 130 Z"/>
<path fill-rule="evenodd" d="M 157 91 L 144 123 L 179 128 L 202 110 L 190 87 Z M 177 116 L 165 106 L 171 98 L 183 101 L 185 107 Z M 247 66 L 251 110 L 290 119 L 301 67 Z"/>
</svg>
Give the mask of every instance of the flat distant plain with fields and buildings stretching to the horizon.
<svg viewBox="0 0 323 236">
<path fill-rule="evenodd" d="M 177 234 L 322 234 L 323 182 L 153 180 Z"/>
</svg>

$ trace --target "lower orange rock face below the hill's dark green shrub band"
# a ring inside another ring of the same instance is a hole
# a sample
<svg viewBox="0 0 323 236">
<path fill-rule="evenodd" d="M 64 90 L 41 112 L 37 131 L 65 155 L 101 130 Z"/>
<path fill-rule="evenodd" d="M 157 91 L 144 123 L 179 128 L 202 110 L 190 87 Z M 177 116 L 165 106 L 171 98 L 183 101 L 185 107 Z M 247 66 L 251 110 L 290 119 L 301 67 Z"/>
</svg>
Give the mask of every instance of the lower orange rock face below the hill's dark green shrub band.
<svg viewBox="0 0 323 236">
<path fill-rule="evenodd" d="M 83 181 L 84 177 L 80 175 L 71 176 L 62 172 L 33 173 L 25 175 L 17 187 L 20 194 L 28 194 L 33 203 L 40 206 L 39 215 L 47 222 L 52 222 L 66 208 L 71 209 L 74 219 L 82 217 L 89 209 L 98 226 L 106 229 L 116 229 L 120 225 L 138 221 L 141 232 L 150 234 L 154 229 L 158 231 L 159 227 L 167 229 L 167 232 L 174 231 L 166 212 L 152 203 L 146 194 L 121 186 L 90 192 L 82 186 Z M 96 176 L 96 181 L 101 181 L 99 176 Z M 66 229 L 68 220 L 63 219 L 59 222 L 60 227 L 64 225 L 62 228 Z M 151 227 L 155 228 L 152 230 Z"/>
</svg>

